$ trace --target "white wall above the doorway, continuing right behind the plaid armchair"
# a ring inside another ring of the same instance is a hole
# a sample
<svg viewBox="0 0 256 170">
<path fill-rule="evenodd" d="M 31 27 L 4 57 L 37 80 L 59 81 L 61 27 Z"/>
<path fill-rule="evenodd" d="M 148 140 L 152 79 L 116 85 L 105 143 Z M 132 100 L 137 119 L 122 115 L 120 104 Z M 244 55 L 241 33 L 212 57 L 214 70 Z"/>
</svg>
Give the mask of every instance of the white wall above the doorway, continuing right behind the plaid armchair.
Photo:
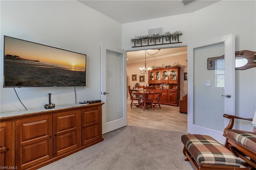
<svg viewBox="0 0 256 170">
<path fill-rule="evenodd" d="M 171 9 L 170 9 L 171 10 Z M 131 49 L 131 38 L 147 35 L 149 28 L 181 30 L 180 42 L 189 43 L 236 34 L 236 51 L 256 51 L 256 1 L 222 0 L 190 14 L 156 18 L 122 25 L 122 48 Z M 135 50 L 136 48 L 134 48 Z M 256 67 L 236 71 L 236 115 L 252 118 L 256 110 Z M 245 125 L 246 124 L 246 125 Z M 252 130 L 248 123 L 237 128 Z"/>
</svg>

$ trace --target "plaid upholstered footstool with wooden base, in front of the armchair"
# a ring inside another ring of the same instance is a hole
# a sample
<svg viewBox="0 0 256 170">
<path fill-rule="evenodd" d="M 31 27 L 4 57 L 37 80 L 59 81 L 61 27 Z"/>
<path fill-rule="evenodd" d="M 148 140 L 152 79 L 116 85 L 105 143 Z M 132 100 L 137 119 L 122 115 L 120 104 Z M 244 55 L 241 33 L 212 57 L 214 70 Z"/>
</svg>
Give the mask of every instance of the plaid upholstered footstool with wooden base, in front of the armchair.
<svg viewBox="0 0 256 170">
<path fill-rule="evenodd" d="M 218 143 L 214 138 L 200 134 L 184 134 L 183 154 L 195 169 L 240 169 L 241 161 L 230 150 Z"/>
</svg>

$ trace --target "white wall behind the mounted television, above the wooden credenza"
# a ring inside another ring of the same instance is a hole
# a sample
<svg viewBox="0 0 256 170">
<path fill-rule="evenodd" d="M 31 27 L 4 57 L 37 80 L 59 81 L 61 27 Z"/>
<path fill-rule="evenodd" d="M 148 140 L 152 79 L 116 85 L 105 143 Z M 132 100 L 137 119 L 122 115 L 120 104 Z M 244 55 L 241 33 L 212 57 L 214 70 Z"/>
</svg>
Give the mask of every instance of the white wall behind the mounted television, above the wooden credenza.
<svg viewBox="0 0 256 170">
<path fill-rule="evenodd" d="M 25 110 L 13 88 L 3 88 L 3 37 L 41 43 L 87 55 L 86 87 L 76 87 L 77 102 L 100 99 L 100 44 L 121 48 L 122 25 L 76 0 L 0 1 L 0 112 Z M 16 88 L 27 109 L 75 103 L 74 87 Z"/>
</svg>

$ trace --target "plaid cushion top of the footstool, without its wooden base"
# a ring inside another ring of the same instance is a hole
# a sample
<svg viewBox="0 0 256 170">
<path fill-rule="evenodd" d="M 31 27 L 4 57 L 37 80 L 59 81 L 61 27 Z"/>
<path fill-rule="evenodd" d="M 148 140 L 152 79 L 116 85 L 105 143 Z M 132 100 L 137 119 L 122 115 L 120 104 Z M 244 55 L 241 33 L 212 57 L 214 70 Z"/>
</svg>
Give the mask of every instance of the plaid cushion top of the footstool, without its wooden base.
<svg viewBox="0 0 256 170">
<path fill-rule="evenodd" d="M 184 134 L 181 140 L 199 164 L 237 167 L 241 165 L 241 161 L 230 150 L 210 136 Z"/>
</svg>

